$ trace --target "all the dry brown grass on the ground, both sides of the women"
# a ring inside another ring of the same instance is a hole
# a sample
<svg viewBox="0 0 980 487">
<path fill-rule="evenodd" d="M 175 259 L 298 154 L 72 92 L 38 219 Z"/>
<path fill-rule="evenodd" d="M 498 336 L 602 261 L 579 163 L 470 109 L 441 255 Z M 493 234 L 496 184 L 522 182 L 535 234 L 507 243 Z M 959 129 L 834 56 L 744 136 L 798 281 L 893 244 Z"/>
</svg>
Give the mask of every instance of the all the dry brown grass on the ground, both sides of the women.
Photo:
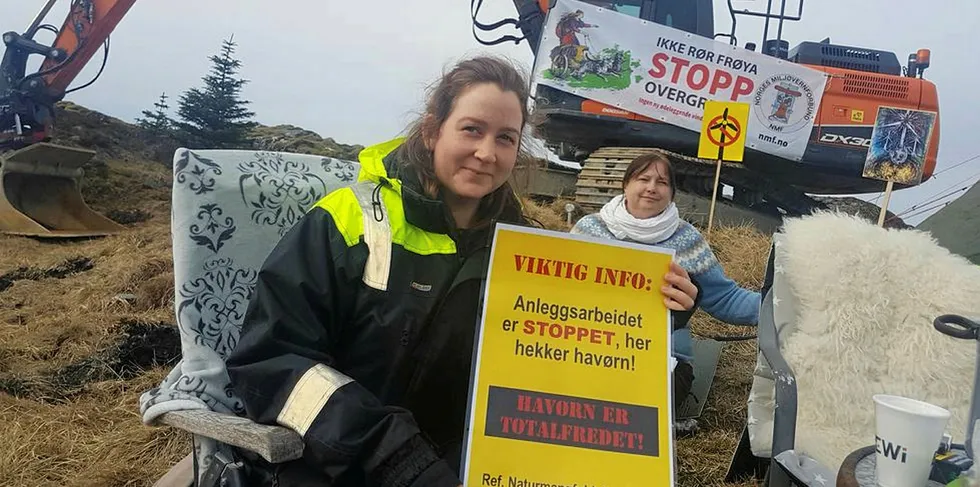
<svg viewBox="0 0 980 487">
<path fill-rule="evenodd" d="M 0 291 L 0 485 L 149 486 L 189 452 L 186 434 L 146 427 L 139 418 L 139 395 L 170 365 L 113 376 L 118 367 L 107 362 L 124 323 L 173 323 L 169 176 L 161 166 L 111 163 L 109 169 L 106 184 L 89 187 L 92 206 L 138 208 L 149 220 L 88 241 L 0 237 L 0 275 L 25 268 L 23 275 L 39 277 Z M 125 189 L 133 187 L 140 189 Z M 527 207 L 544 226 L 568 230 L 564 204 Z M 711 243 L 733 278 L 758 287 L 765 237 L 746 228 L 716 229 Z M 78 257 L 90 259 L 91 268 L 40 277 Z M 693 327 L 707 335 L 746 333 L 701 312 Z M 726 346 L 702 430 L 678 442 L 680 485 L 721 484 L 745 417 L 754 347 L 754 340 Z M 64 373 L 78 372 L 79 364 L 89 368 L 77 377 Z"/>
</svg>

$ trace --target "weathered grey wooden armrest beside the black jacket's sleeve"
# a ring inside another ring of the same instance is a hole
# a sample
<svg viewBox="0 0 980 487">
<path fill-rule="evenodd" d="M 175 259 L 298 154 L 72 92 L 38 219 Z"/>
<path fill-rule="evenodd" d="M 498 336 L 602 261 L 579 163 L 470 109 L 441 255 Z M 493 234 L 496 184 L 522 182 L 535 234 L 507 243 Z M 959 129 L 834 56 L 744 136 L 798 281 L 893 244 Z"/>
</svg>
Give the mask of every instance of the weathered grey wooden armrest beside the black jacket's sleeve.
<svg viewBox="0 0 980 487">
<path fill-rule="evenodd" d="M 253 451 L 269 463 L 283 463 L 303 456 L 303 439 L 282 426 L 258 424 L 248 418 L 206 409 L 170 411 L 160 422 L 221 443 Z"/>
</svg>

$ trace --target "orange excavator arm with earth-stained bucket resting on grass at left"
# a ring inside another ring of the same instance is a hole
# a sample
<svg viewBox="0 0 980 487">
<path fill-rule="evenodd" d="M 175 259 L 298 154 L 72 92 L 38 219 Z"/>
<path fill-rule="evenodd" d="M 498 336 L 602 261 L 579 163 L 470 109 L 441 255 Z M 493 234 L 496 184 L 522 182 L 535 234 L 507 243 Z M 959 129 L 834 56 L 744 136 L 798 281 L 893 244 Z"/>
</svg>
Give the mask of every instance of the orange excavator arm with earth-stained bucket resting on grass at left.
<svg viewBox="0 0 980 487">
<path fill-rule="evenodd" d="M 70 0 L 61 28 L 44 18 L 57 0 L 47 0 L 23 34 L 3 34 L 0 61 L 0 232 L 35 237 L 92 237 L 122 230 L 82 199 L 82 166 L 95 152 L 49 143 L 54 104 L 90 85 L 68 86 L 101 47 L 136 0 Z M 52 45 L 35 40 L 48 30 Z M 39 69 L 27 73 L 31 55 Z M 105 68 L 103 57 L 102 68 Z M 96 75 L 96 78 L 102 73 Z"/>
</svg>

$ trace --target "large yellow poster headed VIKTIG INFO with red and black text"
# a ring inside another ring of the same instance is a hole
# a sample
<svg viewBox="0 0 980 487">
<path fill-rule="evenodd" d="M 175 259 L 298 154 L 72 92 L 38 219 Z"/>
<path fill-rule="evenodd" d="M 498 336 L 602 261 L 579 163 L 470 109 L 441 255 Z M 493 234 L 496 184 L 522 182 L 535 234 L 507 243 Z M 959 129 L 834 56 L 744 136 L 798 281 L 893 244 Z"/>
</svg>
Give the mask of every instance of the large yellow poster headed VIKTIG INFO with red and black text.
<svg viewBox="0 0 980 487">
<path fill-rule="evenodd" d="M 674 251 L 498 225 L 463 485 L 675 485 Z"/>
</svg>

